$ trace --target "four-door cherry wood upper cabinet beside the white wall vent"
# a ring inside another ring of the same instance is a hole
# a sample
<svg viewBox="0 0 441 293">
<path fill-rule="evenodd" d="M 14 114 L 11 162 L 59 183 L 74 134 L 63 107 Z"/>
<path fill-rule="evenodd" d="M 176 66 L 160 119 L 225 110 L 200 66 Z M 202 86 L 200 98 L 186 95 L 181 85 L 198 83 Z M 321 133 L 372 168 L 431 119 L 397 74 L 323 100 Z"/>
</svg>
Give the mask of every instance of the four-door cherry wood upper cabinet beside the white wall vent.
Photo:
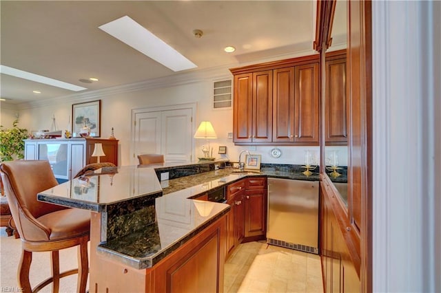
<svg viewBox="0 0 441 293">
<path fill-rule="evenodd" d="M 319 143 L 318 56 L 230 69 L 234 143 Z"/>
</svg>

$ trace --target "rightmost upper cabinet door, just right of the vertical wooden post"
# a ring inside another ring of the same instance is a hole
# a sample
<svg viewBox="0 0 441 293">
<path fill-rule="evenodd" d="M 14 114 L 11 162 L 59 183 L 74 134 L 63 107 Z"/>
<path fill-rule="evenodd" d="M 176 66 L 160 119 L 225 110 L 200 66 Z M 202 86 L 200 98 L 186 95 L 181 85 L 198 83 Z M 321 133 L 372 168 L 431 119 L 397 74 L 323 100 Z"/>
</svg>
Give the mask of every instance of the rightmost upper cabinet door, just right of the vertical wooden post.
<svg viewBox="0 0 441 293">
<path fill-rule="evenodd" d="M 326 54 L 325 142 L 347 144 L 346 50 Z"/>
</svg>

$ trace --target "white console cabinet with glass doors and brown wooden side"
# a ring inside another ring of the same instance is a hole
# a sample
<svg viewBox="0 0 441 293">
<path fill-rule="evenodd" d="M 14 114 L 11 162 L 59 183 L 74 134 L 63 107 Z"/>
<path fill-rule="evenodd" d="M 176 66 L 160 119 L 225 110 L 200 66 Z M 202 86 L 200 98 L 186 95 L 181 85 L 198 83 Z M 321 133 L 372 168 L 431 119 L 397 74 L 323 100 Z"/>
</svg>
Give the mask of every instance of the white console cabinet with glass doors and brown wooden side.
<svg viewBox="0 0 441 293">
<path fill-rule="evenodd" d="M 86 164 L 96 162 L 92 157 L 94 144 L 101 142 L 105 156 L 101 162 L 118 165 L 118 140 L 99 138 L 31 139 L 25 141 L 25 160 L 48 160 L 57 180 L 70 180 Z"/>
</svg>

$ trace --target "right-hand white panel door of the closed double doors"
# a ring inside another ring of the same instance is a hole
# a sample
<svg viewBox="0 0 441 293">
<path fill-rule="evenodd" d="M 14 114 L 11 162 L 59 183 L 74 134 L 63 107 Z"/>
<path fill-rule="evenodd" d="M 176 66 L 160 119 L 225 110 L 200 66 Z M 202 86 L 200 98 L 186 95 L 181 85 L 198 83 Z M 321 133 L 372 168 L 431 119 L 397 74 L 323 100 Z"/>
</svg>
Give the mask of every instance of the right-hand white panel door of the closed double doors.
<svg viewBox="0 0 441 293">
<path fill-rule="evenodd" d="M 162 111 L 161 146 L 165 161 L 192 160 L 192 109 Z"/>
</svg>

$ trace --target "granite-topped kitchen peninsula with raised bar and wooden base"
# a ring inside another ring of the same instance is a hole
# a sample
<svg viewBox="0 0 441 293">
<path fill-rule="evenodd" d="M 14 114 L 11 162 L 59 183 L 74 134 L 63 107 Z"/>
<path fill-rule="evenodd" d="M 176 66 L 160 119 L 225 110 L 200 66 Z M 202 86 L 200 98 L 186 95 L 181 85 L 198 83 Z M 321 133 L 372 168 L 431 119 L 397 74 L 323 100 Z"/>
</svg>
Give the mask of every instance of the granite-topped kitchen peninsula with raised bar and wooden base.
<svg viewBox="0 0 441 293">
<path fill-rule="evenodd" d="M 213 164 L 213 163 L 212 163 Z M 246 177 L 318 180 L 267 169 L 234 173 L 206 164 L 102 169 L 39 193 L 43 202 L 92 211 L 90 290 L 223 292 L 229 205 L 196 198 Z M 189 168 L 188 168 L 189 167 Z M 202 173 L 160 182 L 163 171 Z M 101 173 L 100 173 L 101 172 Z"/>
</svg>

